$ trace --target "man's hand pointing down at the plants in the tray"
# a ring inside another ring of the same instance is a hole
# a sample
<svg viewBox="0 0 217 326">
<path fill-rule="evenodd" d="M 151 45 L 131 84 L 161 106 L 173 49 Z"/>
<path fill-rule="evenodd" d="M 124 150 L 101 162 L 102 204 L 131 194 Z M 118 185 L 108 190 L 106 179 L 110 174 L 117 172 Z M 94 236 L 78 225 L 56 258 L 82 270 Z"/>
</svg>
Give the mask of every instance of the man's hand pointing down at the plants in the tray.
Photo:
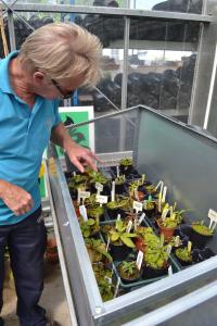
<svg viewBox="0 0 217 326">
<path fill-rule="evenodd" d="M 85 166 L 90 165 L 94 171 L 97 171 L 95 161 L 100 161 L 98 156 L 89 149 L 73 143 L 73 146 L 67 150 L 68 158 L 71 162 L 80 171 L 85 171 Z"/>
</svg>

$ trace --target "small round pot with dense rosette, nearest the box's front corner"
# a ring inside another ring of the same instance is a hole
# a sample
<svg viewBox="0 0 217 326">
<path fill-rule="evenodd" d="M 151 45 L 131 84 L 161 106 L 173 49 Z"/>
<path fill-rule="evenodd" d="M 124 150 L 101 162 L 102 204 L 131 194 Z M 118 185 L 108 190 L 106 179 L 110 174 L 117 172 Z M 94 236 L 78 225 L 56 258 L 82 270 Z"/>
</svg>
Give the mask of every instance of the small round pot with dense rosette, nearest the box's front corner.
<svg viewBox="0 0 217 326">
<path fill-rule="evenodd" d="M 142 274 L 142 269 L 138 269 L 136 261 L 123 261 L 118 264 L 117 271 L 126 284 L 138 281 Z"/>
</svg>

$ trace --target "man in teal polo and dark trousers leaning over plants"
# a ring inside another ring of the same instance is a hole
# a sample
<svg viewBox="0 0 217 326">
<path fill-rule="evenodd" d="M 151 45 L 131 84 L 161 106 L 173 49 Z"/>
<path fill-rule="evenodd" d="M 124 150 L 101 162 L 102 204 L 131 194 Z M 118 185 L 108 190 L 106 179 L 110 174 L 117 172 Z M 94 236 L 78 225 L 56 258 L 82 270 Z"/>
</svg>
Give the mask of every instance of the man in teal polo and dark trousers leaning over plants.
<svg viewBox="0 0 217 326">
<path fill-rule="evenodd" d="M 78 170 L 95 168 L 94 153 L 76 145 L 61 123 L 58 99 L 95 85 L 100 57 L 95 36 L 62 23 L 35 30 L 20 52 L 0 62 L 0 309 L 8 244 L 22 326 L 54 325 L 38 305 L 46 248 L 38 173 L 50 138 Z"/>
</svg>

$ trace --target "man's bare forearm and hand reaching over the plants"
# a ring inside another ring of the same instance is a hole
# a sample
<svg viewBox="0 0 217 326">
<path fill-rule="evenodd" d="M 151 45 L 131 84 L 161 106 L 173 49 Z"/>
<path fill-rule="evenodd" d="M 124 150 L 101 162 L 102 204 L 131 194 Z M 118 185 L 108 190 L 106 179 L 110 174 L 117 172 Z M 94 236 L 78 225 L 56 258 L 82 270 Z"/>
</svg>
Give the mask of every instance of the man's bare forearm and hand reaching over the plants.
<svg viewBox="0 0 217 326">
<path fill-rule="evenodd" d="M 77 145 L 68 135 L 63 123 L 60 123 L 52 129 L 51 141 L 66 151 L 71 162 L 80 172 L 85 171 L 84 166 L 86 165 L 90 165 L 93 170 L 97 170 L 95 161 L 99 161 L 99 159 L 91 150 Z"/>
</svg>

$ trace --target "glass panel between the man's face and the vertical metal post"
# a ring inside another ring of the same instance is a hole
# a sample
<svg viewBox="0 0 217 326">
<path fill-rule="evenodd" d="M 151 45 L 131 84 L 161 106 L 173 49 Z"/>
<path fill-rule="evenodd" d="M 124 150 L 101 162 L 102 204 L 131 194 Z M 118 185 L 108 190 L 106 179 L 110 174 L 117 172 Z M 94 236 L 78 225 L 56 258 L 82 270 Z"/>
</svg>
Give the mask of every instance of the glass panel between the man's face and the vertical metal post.
<svg viewBox="0 0 217 326">
<path fill-rule="evenodd" d="M 102 79 L 97 89 L 78 89 L 78 104 L 93 104 L 97 116 L 120 109 L 124 18 L 87 14 L 81 25 L 97 35 L 103 46 Z M 118 43 L 112 43 L 118 39 Z"/>
</svg>

